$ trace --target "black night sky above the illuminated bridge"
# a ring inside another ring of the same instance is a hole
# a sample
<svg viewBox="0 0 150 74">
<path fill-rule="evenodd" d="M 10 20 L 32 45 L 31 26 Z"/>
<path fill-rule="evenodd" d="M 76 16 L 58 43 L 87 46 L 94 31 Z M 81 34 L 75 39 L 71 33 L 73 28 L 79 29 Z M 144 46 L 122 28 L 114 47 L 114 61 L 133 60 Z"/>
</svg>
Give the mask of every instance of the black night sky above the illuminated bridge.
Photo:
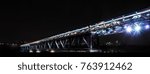
<svg viewBox="0 0 150 74">
<path fill-rule="evenodd" d="M 0 41 L 34 41 L 148 8 L 149 0 L 0 2 Z"/>
</svg>

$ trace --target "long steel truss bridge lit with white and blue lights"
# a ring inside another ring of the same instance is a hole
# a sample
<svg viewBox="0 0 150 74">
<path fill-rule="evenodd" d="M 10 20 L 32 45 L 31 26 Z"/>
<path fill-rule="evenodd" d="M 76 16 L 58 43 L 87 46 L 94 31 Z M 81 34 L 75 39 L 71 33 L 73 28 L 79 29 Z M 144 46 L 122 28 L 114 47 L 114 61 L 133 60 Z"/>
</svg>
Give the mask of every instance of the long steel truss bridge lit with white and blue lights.
<svg viewBox="0 0 150 74">
<path fill-rule="evenodd" d="M 41 52 L 67 49 L 85 49 L 94 51 L 94 48 L 101 48 L 99 37 L 119 33 L 137 34 L 141 30 L 150 28 L 150 9 L 145 9 L 131 15 L 122 16 L 109 21 L 96 23 L 80 29 L 54 35 L 31 43 L 22 44 L 22 52 Z M 109 43 L 107 43 L 109 45 Z M 106 44 L 106 45 L 107 45 Z"/>
</svg>

